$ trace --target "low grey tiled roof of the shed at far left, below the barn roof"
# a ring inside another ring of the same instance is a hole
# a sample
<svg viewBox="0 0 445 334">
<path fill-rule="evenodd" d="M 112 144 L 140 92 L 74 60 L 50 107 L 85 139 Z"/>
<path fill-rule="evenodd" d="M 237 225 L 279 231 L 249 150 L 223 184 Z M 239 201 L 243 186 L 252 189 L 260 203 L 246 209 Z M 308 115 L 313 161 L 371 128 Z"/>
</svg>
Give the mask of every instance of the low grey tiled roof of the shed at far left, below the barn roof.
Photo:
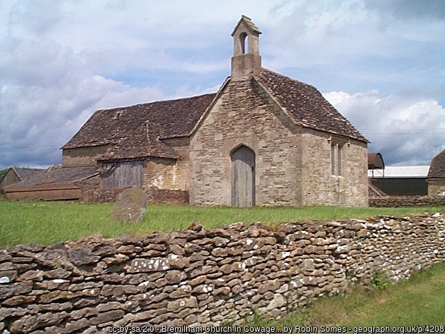
<svg viewBox="0 0 445 334">
<path fill-rule="evenodd" d="M 40 184 L 71 184 L 85 180 L 88 177 L 92 177 L 96 174 L 97 172 L 95 166 L 64 167 L 35 174 L 21 182 L 10 184 L 9 186 L 6 186 L 5 189 L 13 189 L 14 187 L 22 186 L 36 186 Z"/>
</svg>

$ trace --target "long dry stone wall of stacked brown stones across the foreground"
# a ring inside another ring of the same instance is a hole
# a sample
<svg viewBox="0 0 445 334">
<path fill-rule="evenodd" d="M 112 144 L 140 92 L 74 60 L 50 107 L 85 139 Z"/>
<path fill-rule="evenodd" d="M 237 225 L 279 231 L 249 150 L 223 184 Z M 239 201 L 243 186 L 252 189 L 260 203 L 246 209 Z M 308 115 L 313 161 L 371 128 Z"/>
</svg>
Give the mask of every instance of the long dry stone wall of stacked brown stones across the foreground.
<svg viewBox="0 0 445 334">
<path fill-rule="evenodd" d="M 205 331 L 444 258 L 445 212 L 26 244 L 0 250 L 0 333 Z"/>
</svg>

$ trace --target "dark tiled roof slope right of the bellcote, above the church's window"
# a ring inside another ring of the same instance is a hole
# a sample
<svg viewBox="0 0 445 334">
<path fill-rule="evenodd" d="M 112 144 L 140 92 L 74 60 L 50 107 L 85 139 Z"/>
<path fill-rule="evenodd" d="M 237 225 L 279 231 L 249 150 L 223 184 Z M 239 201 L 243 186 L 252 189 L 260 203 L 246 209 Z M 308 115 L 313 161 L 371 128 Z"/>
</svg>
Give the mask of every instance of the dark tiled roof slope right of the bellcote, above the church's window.
<svg viewBox="0 0 445 334">
<path fill-rule="evenodd" d="M 266 69 L 257 79 L 297 125 L 367 142 L 314 86 Z"/>
</svg>

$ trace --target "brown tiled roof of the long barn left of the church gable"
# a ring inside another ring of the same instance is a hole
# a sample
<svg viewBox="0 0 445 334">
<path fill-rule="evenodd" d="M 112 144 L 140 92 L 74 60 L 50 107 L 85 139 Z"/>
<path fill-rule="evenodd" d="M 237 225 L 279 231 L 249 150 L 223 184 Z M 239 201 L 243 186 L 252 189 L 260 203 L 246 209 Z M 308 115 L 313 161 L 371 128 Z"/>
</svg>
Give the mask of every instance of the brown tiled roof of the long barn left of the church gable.
<svg viewBox="0 0 445 334">
<path fill-rule="evenodd" d="M 159 138 L 187 136 L 216 94 L 99 110 L 63 148 L 113 144 L 104 159 L 177 157 Z"/>
</svg>

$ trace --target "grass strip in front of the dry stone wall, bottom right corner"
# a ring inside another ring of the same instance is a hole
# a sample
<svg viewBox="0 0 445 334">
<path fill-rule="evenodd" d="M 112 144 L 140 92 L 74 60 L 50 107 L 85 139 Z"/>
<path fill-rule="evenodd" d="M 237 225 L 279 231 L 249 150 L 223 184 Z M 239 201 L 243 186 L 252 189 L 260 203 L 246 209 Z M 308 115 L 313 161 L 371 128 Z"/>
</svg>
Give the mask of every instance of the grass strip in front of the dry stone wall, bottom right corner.
<svg viewBox="0 0 445 334">
<path fill-rule="evenodd" d="M 358 286 L 344 296 L 325 297 L 286 319 L 256 316 L 247 324 L 273 326 L 445 326 L 445 263 L 415 273 L 385 289 L 364 291 Z M 348 333 L 353 333 L 350 331 Z M 430 332 L 435 333 L 435 332 Z"/>
</svg>

